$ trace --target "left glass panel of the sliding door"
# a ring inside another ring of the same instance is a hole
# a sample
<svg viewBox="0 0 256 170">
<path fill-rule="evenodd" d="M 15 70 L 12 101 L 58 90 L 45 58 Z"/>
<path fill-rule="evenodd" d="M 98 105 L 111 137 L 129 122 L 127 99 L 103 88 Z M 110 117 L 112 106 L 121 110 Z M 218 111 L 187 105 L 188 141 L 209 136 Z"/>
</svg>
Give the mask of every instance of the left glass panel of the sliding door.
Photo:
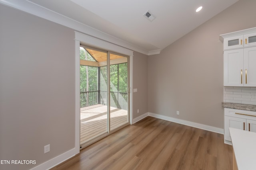
<svg viewBox="0 0 256 170">
<path fill-rule="evenodd" d="M 108 134 L 106 61 L 107 52 L 80 47 L 81 146 Z"/>
</svg>

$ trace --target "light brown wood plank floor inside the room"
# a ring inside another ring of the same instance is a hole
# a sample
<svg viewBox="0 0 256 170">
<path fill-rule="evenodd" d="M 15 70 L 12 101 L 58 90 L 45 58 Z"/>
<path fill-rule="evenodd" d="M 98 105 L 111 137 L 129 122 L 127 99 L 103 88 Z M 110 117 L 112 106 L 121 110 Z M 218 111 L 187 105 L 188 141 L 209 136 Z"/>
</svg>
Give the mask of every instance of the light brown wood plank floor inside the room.
<svg viewBox="0 0 256 170">
<path fill-rule="evenodd" d="M 80 150 L 53 170 L 232 170 L 223 135 L 154 117 Z"/>
</svg>

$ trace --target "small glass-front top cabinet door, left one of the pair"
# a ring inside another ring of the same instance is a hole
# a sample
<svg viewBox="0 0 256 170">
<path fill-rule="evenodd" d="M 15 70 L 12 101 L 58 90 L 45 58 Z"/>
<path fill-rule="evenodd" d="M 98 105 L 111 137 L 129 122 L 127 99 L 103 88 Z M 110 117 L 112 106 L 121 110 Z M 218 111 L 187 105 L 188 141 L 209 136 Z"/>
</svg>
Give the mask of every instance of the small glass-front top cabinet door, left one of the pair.
<svg viewBox="0 0 256 170">
<path fill-rule="evenodd" d="M 243 35 L 225 38 L 223 41 L 224 50 L 244 47 Z"/>
</svg>

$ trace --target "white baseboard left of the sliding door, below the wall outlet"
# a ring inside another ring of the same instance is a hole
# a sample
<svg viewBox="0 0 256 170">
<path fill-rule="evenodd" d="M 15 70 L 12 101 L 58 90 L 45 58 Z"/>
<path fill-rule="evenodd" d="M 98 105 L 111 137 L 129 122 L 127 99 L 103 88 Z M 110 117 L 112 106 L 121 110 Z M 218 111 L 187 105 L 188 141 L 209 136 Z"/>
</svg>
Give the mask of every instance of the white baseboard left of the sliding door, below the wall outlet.
<svg viewBox="0 0 256 170">
<path fill-rule="evenodd" d="M 67 152 L 60 154 L 56 156 L 55 158 L 52 158 L 30 170 L 49 170 L 50 168 L 53 168 L 54 166 L 64 162 L 65 160 L 68 160 L 69 158 L 72 158 L 76 154 L 76 148 L 68 150 Z"/>
</svg>

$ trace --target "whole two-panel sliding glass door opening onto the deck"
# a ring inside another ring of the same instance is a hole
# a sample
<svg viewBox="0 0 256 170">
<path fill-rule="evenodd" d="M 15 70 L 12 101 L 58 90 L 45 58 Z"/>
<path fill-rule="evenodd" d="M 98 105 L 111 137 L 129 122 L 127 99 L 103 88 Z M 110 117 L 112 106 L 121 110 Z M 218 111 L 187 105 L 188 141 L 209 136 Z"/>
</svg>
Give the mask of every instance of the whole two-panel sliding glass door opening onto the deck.
<svg viewBox="0 0 256 170">
<path fill-rule="evenodd" d="M 128 57 L 80 47 L 80 145 L 128 125 Z"/>
</svg>

